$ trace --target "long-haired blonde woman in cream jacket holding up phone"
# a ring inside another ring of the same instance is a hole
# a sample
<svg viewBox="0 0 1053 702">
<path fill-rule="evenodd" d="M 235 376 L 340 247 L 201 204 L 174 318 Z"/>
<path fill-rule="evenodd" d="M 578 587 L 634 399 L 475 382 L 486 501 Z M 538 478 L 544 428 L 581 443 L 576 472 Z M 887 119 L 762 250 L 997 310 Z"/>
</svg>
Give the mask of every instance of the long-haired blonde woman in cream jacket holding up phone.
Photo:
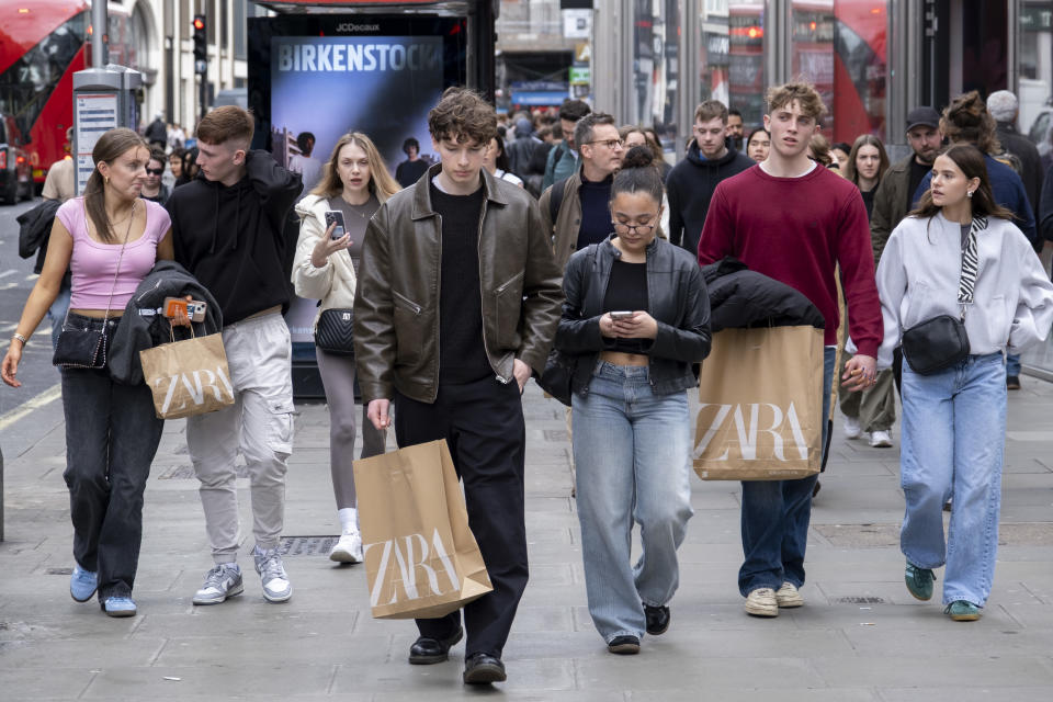
<svg viewBox="0 0 1053 702">
<path fill-rule="evenodd" d="M 299 241 L 293 262 L 296 294 L 321 301 L 326 309 L 354 306 L 354 286 L 365 227 L 381 203 L 399 190 L 370 137 L 358 132 L 337 141 L 322 168 L 318 185 L 296 205 L 301 217 Z M 346 233 L 332 238 L 335 225 L 326 225 L 326 212 L 343 213 Z M 315 350 L 318 372 L 329 405 L 329 464 L 340 518 L 340 540 L 329 557 L 340 563 L 362 561 L 358 501 L 354 491 L 354 355 Z M 362 457 L 384 453 L 384 433 L 374 429 L 362 412 Z"/>
</svg>

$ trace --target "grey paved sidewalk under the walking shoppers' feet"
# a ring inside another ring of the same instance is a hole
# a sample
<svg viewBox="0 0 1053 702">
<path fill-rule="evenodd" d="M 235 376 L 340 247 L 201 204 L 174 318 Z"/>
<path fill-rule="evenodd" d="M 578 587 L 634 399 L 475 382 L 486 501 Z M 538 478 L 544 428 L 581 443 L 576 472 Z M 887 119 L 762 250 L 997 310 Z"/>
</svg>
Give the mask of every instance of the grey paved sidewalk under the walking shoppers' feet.
<svg viewBox="0 0 1053 702">
<path fill-rule="evenodd" d="M 326 408 L 297 410 L 285 534 L 332 535 Z M 980 622 L 953 623 L 938 597 L 907 593 L 898 451 L 846 441 L 838 427 L 812 520 L 806 607 L 744 614 L 738 485 L 692 479 L 672 625 L 636 657 L 609 655 L 585 607 L 563 408 L 531 385 L 525 410 L 531 581 L 506 649 L 509 681 L 489 692 L 460 682 L 463 645 L 449 664 L 407 665 L 412 624 L 373 620 L 362 567 L 331 564 L 327 540 L 290 542 L 303 555 L 285 558 L 288 603 L 263 601 L 242 555 L 245 595 L 193 607 L 211 558 L 182 421 L 168 423 L 147 487 L 140 614 L 113 620 L 77 604 L 61 406 L 36 410 L 5 430 L 52 427 L 5 455 L 0 700 L 1053 700 L 1053 385 L 1026 378 L 1010 395 L 1003 545 Z"/>
</svg>

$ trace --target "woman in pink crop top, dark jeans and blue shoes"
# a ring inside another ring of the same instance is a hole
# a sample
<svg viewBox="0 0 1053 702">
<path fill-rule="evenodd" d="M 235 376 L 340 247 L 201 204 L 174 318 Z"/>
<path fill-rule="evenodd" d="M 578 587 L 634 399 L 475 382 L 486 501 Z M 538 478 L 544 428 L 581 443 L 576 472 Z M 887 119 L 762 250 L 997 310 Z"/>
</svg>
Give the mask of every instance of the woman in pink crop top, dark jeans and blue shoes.
<svg viewBox="0 0 1053 702">
<path fill-rule="evenodd" d="M 168 213 L 139 197 L 149 160 L 146 141 L 125 128 L 106 132 L 92 150 L 95 170 L 83 197 L 59 207 L 44 270 L 22 310 L 0 366 L 12 387 L 22 349 L 47 313 L 67 267 L 72 298 L 63 333 L 103 329 L 109 341 L 136 286 L 158 259 L 172 259 Z M 69 593 L 98 592 L 110 616 L 136 613 L 132 586 L 143 534 L 143 492 L 161 440 L 150 389 L 115 383 L 106 367 L 61 369 L 66 472 L 76 565 Z"/>
</svg>

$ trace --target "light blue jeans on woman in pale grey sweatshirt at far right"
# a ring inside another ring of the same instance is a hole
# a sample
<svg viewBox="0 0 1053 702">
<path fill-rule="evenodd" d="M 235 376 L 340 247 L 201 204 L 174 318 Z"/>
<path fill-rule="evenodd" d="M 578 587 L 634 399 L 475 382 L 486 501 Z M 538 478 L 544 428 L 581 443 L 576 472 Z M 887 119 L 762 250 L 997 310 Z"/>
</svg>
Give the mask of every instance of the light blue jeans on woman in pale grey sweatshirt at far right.
<svg viewBox="0 0 1053 702">
<path fill-rule="evenodd" d="M 1001 354 L 971 355 L 933 375 L 903 365 L 899 548 L 922 568 L 944 563 L 943 603 L 983 607 L 998 551 L 1006 373 Z M 943 541 L 943 502 L 954 490 Z"/>
</svg>

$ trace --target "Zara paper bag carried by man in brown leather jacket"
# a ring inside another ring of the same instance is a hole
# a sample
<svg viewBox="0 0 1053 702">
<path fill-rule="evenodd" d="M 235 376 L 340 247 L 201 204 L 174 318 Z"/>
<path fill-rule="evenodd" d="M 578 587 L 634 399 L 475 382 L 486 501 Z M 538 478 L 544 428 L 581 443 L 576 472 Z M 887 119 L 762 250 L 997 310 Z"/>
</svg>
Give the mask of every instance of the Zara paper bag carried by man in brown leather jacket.
<svg viewBox="0 0 1053 702">
<path fill-rule="evenodd" d="M 376 619 L 443 616 L 491 591 L 445 440 L 354 462 Z"/>
</svg>

